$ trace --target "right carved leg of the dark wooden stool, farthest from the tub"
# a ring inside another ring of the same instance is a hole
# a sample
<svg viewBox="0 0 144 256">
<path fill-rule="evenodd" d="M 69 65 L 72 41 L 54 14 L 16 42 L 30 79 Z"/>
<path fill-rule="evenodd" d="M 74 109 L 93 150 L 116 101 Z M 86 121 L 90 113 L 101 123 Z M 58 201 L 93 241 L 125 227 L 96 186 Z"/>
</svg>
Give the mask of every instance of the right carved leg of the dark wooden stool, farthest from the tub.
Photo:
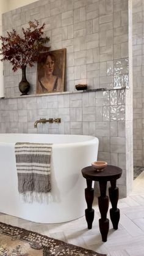
<svg viewBox="0 0 144 256">
<path fill-rule="evenodd" d="M 115 230 L 118 229 L 118 222 L 120 220 L 120 209 L 117 208 L 118 203 L 118 187 L 116 187 L 116 180 L 110 181 L 111 187 L 109 187 L 109 198 L 112 203 L 110 209 L 110 219 Z"/>
</svg>

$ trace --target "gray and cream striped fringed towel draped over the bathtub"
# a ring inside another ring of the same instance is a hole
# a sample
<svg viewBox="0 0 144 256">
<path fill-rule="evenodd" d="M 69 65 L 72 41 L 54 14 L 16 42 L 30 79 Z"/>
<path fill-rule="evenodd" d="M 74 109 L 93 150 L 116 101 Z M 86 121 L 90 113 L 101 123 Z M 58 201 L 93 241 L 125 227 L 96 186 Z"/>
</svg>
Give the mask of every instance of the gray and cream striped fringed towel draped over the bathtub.
<svg viewBox="0 0 144 256">
<path fill-rule="evenodd" d="M 18 191 L 46 193 L 51 190 L 52 144 L 17 142 L 15 144 Z"/>
</svg>

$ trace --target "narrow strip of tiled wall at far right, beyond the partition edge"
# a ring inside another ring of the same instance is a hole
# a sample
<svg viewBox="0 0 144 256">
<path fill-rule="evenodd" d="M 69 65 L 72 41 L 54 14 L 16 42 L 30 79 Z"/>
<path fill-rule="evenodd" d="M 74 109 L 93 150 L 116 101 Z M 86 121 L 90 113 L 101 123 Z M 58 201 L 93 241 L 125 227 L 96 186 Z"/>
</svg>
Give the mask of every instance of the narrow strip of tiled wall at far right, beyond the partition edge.
<svg viewBox="0 0 144 256">
<path fill-rule="evenodd" d="M 144 28 L 144 1 L 133 0 L 133 110 L 134 110 L 134 165 L 144 166 L 143 140 L 143 28 Z"/>
</svg>

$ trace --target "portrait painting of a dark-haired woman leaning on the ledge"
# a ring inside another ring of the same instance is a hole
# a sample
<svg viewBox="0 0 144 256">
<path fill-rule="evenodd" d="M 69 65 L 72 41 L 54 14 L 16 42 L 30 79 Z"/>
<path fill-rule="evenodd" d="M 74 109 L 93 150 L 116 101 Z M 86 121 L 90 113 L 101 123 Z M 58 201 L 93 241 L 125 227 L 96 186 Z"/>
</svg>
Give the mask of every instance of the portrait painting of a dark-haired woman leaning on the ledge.
<svg viewBox="0 0 144 256">
<path fill-rule="evenodd" d="M 41 53 L 37 63 L 37 94 L 64 91 L 65 56 L 66 49 Z"/>
</svg>

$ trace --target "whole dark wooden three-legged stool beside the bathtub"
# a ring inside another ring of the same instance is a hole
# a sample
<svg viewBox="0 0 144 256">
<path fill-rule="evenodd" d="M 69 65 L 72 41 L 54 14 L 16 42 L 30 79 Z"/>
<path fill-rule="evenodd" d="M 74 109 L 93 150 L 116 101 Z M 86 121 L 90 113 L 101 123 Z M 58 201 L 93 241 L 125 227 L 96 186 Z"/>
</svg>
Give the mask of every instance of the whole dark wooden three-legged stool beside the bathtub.
<svg viewBox="0 0 144 256">
<path fill-rule="evenodd" d="M 94 167 L 88 166 L 82 169 L 82 176 L 87 181 L 87 189 L 85 189 L 85 200 L 87 202 L 87 209 L 85 209 L 85 219 L 87 220 L 88 229 L 92 228 L 94 219 L 94 209 L 92 208 L 94 189 L 92 188 L 92 181 L 99 182 L 100 197 L 98 197 L 98 206 L 101 213 L 99 219 L 99 230 L 101 232 L 102 240 L 107 241 L 107 234 L 109 232 L 109 219 L 107 219 L 107 211 L 109 209 L 109 198 L 112 203 L 110 209 L 110 219 L 115 230 L 118 229 L 118 222 L 120 220 L 120 209 L 117 208 L 118 203 L 118 187 L 116 187 L 117 179 L 121 177 L 122 170 L 113 165 L 107 165 L 103 171 L 96 171 Z M 106 195 L 107 181 L 110 181 L 109 197 Z"/>
</svg>

